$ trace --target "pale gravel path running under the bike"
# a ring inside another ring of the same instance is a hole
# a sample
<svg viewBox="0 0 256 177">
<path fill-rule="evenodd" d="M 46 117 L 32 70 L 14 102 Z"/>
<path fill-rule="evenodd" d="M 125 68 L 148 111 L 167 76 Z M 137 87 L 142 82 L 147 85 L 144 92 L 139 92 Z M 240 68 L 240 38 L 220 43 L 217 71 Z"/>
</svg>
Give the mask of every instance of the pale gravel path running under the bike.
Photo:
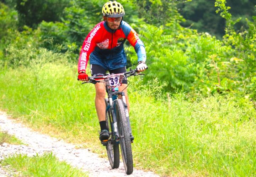
<svg viewBox="0 0 256 177">
<path fill-rule="evenodd" d="M 91 153 L 88 149 L 76 149 L 74 144 L 65 143 L 63 140 L 40 134 L 15 123 L 14 120 L 7 118 L 4 112 L 0 112 L 0 128 L 11 135 L 21 139 L 28 145 L 10 145 L 4 143 L 0 146 L 0 160 L 9 154 L 28 154 L 29 156 L 39 155 L 45 152 L 53 152 L 60 161 L 65 160 L 70 165 L 79 167 L 89 176 L 127 176 L 124 171 L 123 163 L 120 162 L 119 169 L 111 169 L 109 161 L 99 158 L 97 154 Z M 12 176 L 10 172 L 1 169 L 0 176 Z M 157 176 L 152 172 L 144 172 L 134 169 L 129 176 Z"/>
</svg>

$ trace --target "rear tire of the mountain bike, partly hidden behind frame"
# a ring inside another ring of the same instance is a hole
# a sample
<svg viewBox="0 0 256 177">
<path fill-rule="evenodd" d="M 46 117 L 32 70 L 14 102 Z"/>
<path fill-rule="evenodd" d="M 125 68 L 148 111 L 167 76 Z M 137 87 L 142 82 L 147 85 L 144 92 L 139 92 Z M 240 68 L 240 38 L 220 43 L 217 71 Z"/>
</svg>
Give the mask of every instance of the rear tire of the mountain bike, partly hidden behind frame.
<svg viewBox="0 0 256 177">
<path fill-rule="evenodd" d="M 105 98 L 105 104 L 107 107 L 108 98 Z M 112 122 L 113 122 L 111 111 L 108 110 L 106 114 L 106 125 L 110 132 L 110 141 L 107 142 L 106 150 L 107 150 L 108 160 L 110 161 L 111 168 L 118 169 L 119 163 L 120 163 L 119 144 L 116 142 L 116 138 L 114 137 L 114 133 L 110 124 L 110 119 L 112 119 Z"/>
</svg>

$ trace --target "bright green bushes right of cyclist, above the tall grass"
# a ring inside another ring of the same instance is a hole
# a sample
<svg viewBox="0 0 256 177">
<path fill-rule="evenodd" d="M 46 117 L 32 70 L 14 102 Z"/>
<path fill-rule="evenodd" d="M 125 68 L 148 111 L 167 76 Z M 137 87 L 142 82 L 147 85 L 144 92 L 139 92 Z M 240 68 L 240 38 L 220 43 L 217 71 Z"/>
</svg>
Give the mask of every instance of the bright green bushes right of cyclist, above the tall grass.
<svg viewBox="0 0 256 177">
<path fill-rule="evenodd" d="M 250 80 L 256 67 L 255 23 L 247 20 L 249 29 L 235 32 L 234 25 L 240 18 L 233 21 L 228 12 L 230 7 L 225 3 L 225 0 L 216 1 L 217 12 L 227 21 L 223 41 L 208 33 L 198 34 L 182 28 L 175 21 L 159 28 L 140 25 L 139 34 L 149 65 L 145 82 L 156 76 L 160 84 L 166 83 L 166 91 L 180 89 L 191 97 L 214 93 L 252 95 L 254 84 Z M 135 65 L 137 56 L 133 48 L 126 50 Z"/>
</svg>

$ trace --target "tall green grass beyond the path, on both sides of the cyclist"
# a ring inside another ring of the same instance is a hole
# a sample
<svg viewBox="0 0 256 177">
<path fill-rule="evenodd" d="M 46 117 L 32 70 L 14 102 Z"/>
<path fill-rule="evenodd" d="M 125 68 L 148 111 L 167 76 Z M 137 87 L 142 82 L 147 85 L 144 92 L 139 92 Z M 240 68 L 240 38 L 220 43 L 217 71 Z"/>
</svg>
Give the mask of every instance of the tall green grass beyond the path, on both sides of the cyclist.
<svg viewBox="0 0 256 177">
<path fill-rule="evenodd" d="M 60 74 L 61 73 L 61 74 Z M 13 77 L 15 76 L 15 77 Z M 154 82 L 129 86 L 135 166 L 166 176 L 255 176 L 256 111 L 249 100 L 162 96 Z M 145 87 L 145 88 L 144 88 Z M 92 84 L 76 66 L 46 63 L 0 71 L 0 105 L 41 132 L 105 152 Z"/>
</svg>

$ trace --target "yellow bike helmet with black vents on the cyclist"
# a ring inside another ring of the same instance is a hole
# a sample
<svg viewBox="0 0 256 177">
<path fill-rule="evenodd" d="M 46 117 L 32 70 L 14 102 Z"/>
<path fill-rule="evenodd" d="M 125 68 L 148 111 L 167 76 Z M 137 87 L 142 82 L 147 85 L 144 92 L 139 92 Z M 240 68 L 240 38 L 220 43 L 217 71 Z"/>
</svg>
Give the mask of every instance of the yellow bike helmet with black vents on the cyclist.
<svg viewBox="0 0 256 177">
<path fill-rule="evenodd" d="M 124 8 L 117 1 L 108 1 L 102 7 L 102 15 L 105 17 L 122 17 Z"/>
</svg>

